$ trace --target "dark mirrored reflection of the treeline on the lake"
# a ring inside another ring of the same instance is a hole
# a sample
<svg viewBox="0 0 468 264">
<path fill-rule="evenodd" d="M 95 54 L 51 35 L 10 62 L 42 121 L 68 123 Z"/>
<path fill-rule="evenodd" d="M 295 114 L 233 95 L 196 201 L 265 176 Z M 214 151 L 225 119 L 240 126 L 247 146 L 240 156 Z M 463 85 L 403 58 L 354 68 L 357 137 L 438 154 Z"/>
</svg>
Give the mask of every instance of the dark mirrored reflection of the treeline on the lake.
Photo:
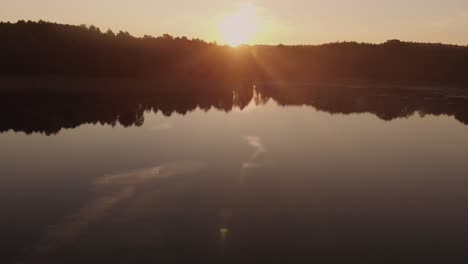
<svg viewBox="0 0 468 264">
<path fill-rule="evenodd" d="M 230 112 L 249 103 L 264 104 L 269 99 L 280 106 L 308 105 L 331 114 L 372 113 L 382 120 L 448 115 L 468 125 L 468 100 L 447 97 L 429 90 L 403 88 L 349 88 L 324 86 L 257 85 L 248 82 L 155 84 L 145 82 L 86 82 L 86 88 L 70 83 L 73 89 L 23 86 L 2 92 L 0 131 L 55 134 L 82 124 L 124 127 L 141 126 L 144 113 L 165 116 L 186 115 L 195 109 Z M 37 86 L 37 83 L 36 83 Z M 77 88 L 78 87 L 78 88 Z M 46 89 L 47 88 L 47 89 Z M 26 91 L 25 91 L 26 90 Z M 66 90 L 66 91 L 65 91 Z"/>
</svg>

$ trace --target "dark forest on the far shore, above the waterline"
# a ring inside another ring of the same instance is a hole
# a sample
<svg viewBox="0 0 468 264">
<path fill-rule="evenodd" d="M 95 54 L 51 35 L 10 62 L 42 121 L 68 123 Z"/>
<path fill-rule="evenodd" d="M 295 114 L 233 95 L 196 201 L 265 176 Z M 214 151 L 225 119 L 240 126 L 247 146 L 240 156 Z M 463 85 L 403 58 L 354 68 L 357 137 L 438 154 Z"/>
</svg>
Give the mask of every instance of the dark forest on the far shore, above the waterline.
<svg viewBox="0 0 468 264">
<path fill-rule="evenodd" d="M 101 32 L 48 22 L 0 24 L 0 75 L 161 79 L 468 83 L 468 47 L 409 43 L 332 43 L 231 48 L 199 39 Z"/>
</svg>

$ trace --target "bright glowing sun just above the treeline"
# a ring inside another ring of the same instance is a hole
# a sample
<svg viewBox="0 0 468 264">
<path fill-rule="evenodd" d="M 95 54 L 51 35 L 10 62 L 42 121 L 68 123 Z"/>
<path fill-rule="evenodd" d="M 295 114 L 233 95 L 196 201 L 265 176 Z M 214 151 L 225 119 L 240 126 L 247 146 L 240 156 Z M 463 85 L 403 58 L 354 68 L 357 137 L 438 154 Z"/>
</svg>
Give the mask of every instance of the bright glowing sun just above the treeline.
<svg viewBox="0 0 468 264">
<path fill-rule="evenodd" d="M 258 30 L 255 7 L 243 4 L 239 9 L 226 16 L 220 25 L 223 41 L 233 47 L 248 44 Z"/>
</svg>

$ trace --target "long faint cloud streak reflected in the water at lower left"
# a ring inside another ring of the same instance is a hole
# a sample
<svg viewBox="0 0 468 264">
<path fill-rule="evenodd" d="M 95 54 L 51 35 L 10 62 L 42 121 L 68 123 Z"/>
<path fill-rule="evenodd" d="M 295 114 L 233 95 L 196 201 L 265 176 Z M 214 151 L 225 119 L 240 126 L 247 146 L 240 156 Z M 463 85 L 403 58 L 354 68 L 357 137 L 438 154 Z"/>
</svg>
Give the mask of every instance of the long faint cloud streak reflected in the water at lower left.
<svg viewBox="0 0 468 264">
<path fill-rule="evenodd" d="M 75 242 L 90 226 L 105 218 L 111 209 L 131 199 L 137 187 L 147 181 L 189 174 L 201 168 L 200 163 L 169 163 L 101 176 L 92 182 L 91 187 L 96 193 L 106 193 L 106 195 L 98 196 L 75 213 L 66 216 L 61 222 L 49 226 L 43 238 L 30 253 L 47 255 L 63 245 Z"/>
</svg>

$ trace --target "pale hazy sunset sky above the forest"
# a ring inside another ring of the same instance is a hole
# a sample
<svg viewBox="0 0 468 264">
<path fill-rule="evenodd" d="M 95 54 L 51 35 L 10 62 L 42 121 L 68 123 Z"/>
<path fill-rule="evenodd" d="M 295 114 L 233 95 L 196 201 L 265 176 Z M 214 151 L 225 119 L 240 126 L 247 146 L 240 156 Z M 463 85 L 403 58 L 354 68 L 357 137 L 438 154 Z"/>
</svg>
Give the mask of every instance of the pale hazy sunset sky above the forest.
<svg viewBox="0 0 468 264">
<path fill-rule="evenodd" d="M 244 29 L 252 43 L 398 38 L 468 44 L 468 0 L 0 0 L 0 20 L 94 24 L 137 36 L 170 33 L 222 43 L 221 25 L 246 3 L 254 7 L 249 23 L 255 30 Z"/>
</svg>

